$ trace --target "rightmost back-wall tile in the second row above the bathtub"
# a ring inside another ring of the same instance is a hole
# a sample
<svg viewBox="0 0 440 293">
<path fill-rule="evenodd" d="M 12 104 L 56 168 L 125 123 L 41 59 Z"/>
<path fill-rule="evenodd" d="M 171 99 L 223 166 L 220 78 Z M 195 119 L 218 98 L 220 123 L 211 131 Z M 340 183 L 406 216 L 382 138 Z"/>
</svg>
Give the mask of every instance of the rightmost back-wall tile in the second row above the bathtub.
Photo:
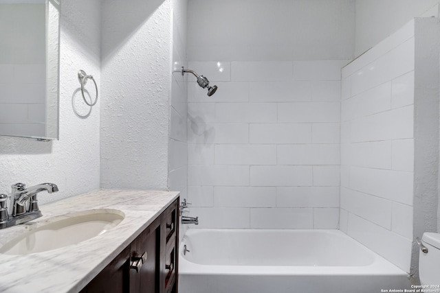
<svg viewBox="0 0 440 293">
<path fill-rule="evenodd" d="M 339 187 L 277 187 L 277 207 L 339 207 Z"/>
</svg>

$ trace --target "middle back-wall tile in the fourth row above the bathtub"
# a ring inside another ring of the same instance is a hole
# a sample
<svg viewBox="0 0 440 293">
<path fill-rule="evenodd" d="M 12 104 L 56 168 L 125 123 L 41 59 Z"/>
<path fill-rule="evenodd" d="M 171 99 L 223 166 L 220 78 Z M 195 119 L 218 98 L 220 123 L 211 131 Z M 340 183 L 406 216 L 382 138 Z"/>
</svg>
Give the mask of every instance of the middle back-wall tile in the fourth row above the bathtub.
<svg viewBox="0 0 440 293">
<path fill-rule="evenodd" d="M 276 165 L 276 145 L 215 145 L 216 165 Z"/>
</svg>

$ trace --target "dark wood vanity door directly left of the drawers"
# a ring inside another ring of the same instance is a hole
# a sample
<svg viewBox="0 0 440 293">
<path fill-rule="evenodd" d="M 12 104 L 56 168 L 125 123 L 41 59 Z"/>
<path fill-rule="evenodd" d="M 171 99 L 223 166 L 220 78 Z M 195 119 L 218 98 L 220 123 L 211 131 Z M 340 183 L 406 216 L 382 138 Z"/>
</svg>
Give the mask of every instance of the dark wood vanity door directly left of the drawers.
<svg viewBox="0 0 440 293">
<path fill-rule="evenodd" d="M 160 219 L 146 228 L 131 244 L 131 256 L 146 254 L 139 270 L 131 269 L 131 292 L 159 293 Z"/>
</svg>

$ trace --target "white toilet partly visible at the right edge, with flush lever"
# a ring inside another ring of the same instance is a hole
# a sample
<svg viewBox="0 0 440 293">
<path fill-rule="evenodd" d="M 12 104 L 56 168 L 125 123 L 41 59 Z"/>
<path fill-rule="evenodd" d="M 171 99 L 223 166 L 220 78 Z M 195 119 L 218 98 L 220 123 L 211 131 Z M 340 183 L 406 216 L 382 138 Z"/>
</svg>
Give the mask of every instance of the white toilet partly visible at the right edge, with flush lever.
<svg viewBox="0 0 440 293">
<path fill-rule="evenodd" d="M 420 283 L 426 292 L 440 292 L 440 233 L 423 233 L 419 246 Z"/>
</svg>

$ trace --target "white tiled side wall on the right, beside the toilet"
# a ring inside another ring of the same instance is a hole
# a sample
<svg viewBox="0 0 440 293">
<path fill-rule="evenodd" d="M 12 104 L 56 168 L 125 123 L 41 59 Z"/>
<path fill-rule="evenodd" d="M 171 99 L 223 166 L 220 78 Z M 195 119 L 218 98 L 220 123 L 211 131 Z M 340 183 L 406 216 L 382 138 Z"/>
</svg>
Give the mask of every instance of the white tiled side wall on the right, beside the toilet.
<svg viewBox="0 0 440 293">
<path fill-rule="evenodd" d="M 408 272 L 414 32 L 411 22 L 344 67 L 341 104 L 340 229 Z"/>
</svg>

